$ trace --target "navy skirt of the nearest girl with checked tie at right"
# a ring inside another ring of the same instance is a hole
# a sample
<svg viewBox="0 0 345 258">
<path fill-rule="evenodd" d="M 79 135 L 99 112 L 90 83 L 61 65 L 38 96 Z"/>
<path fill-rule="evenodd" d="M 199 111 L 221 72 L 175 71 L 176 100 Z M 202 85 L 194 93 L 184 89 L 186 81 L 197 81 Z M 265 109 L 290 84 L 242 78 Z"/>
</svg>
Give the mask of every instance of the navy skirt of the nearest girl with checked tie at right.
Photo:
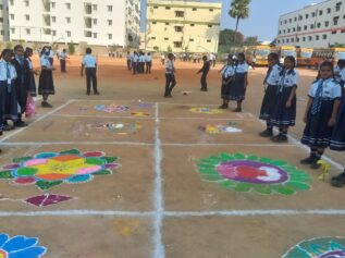
<svg viewBox="0 0 345 258">
<path fill-rule="evenodd" d="M 310 148 L 326 148 L 330 145 L 334 127 L 329 127 L 328 123 L 333 112 L 334 99 L 322 100 L 321 110 L 311 114 L 311 108 L 307 115 L 306 127 L 301 137 L 301 143 Z"/>
</svg>

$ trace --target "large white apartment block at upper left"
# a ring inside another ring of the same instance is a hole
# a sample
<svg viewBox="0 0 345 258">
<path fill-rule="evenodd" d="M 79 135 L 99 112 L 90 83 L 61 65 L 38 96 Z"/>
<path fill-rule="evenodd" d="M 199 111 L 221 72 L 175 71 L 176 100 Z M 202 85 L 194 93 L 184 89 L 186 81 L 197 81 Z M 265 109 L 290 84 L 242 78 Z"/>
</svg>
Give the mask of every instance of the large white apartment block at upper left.
<svg viewBox="0 0 345 258">
<path fill-rule="evenodd" d="M 140 0 L 0 0 L 0 40 L 138 47 Z"/>
</svg>

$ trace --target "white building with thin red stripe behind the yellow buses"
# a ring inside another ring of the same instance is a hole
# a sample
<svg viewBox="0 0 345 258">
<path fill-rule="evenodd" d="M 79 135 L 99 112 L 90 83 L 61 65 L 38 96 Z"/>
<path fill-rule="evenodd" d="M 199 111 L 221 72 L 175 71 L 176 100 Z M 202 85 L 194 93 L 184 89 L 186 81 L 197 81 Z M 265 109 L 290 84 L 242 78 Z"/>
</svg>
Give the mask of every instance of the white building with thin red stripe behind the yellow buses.
<svg viewBox="0 0 345 258">
<path fill-rule="evenodd" d="M 281 15 L 276 44 L 303 48 L 345 44 L 345 1 L 328 0 Z"/>
</svg>

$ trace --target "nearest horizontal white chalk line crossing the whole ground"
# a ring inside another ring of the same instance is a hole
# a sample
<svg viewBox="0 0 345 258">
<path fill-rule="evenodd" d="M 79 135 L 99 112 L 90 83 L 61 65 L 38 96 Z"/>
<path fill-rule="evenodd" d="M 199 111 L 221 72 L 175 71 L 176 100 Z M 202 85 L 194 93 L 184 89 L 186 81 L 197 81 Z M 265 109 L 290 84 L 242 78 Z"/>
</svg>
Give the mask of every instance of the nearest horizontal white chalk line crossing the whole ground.
<svg viewBox="0 0 345 258">
<path fill-rule="evenodd" d="M 194 217 L 256 217 L 256 216 L 344 216 L 345 209 L 268 209 L 268 210 L 209 210 L 209 211 L 162 211 L 163 217 L 170 218 L 194 218 Z M 157 219 L 155 211 L 121 211 L 121 210 L 45 210 L 45 211 L 0 211 L 0 217 L 132 217 Z M 161 223 L 160 223 L 161 224 Z M 156 229 L 156 228 L 155 228 Z M 159 233 L 161 232 L 161 229 Z M 157 247 L 157 246 L 156 246 Z M 161 249 L 158 249 L 161 250 Z M 160 256 L 161 258 L 161 256 Z"/>
</svg>

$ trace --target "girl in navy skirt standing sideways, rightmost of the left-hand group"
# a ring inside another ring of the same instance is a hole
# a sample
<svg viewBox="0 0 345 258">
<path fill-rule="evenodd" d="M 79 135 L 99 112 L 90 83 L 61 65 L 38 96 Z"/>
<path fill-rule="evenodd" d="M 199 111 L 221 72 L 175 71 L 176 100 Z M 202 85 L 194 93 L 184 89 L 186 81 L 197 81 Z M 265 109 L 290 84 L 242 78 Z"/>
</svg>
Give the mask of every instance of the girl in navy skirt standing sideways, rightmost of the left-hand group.
<svg viewBox="0 0 345 258">
<path fill-rule="evenodd" d="M 52 64 L 49 61 L 50 49 L 47 47 L 42 48 L 40 53 L 40 75 L 38 82 L 38 94 L 42 96 L 44 101 L 41 102 L 42 108 L 52 108 L 48 102 L 49 95 L 54 95 L 54 83 L 52 78 Z"/>
</svg>

